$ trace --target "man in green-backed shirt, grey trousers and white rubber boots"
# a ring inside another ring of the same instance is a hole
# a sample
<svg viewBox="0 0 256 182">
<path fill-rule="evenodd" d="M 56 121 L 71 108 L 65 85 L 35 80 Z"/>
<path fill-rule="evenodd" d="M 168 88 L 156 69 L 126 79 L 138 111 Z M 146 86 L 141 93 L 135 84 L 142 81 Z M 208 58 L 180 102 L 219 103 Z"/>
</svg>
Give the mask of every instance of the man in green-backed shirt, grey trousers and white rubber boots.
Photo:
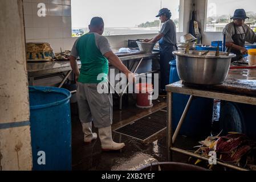
<svg viewBox="0 0 256 182">
<path fill-rule="evenodd" d="M 71 50 L 70 63 L 77 81 L 79 119 L 82 122 L 84 142 L 90 144 L 97 138 L 92 133 L 92 121 L 99 130 L 101 148 L 104 151 L 120 150 L 124 143 L 112 140 L 112 94 L 99 93 L 99 83 L 108 84 L 108 61 L 123 72 L 127 78 L 131 73 L 120 59 L 112 52 L 107 38 L 102 36 L 104 22 L 100 17 L 94 17 L 89 25 L 90 32 L 78 38 Z M 76 59 L 80 57 L 82 67 L 79 71 Z M 98 76 L 103 75 L 100 80 Z M 129 79 L 130 80 L 130 79 Z"/>
</svg>

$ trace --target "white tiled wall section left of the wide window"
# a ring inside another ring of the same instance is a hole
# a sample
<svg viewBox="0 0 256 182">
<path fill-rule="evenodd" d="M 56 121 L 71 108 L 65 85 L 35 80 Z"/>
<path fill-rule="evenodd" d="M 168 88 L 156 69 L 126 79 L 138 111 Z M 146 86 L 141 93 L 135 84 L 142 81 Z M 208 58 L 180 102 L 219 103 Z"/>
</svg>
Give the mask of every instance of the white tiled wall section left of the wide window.
<svg viewBox="0 0 256 182">
<path fill-rule="evenodd" d="M 46 16 L 38 16 L 38 3 L 46 5 Z M 70 49 L 71 0 L 23 0 L 26 42 L 48 42 L 55 52 Z"/>
</svg>

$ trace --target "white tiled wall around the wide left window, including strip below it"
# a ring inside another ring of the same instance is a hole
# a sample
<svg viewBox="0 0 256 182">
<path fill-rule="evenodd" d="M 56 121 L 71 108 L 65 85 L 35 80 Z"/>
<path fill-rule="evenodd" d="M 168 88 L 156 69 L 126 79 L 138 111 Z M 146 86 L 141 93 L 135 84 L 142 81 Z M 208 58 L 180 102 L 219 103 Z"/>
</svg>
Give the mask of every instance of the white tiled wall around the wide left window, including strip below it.
<svg viewBox="0 0 256 182">
<path fill-rule="evenodd" d="M 26 42 L 48 42 L 54 52 L 71 50 L 76 38 L 71 37 L 72 0 L 23 0 Z M 87 1 L 87 0 L 83 0 Z M 88 0 L 89 1 L 89 0 Z M 183 2 L 184 0 L 182 0 Z M 45 3 L 46 16 L 39 17 L 38 3 Z M 177 33 L 177 39 L 188 32 L 192 0 L 184 1 L 184 32 Z M 156 34 L 106 36 L 113 49 L 126 47 L 128 39 L 148 39 Z"/>
</svg>

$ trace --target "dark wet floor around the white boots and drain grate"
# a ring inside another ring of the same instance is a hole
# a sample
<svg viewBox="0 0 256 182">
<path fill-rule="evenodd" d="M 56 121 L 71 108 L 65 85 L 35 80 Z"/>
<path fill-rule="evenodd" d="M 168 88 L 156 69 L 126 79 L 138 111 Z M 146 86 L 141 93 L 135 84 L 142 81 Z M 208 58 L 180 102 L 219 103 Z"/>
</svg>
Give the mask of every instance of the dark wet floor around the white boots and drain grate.
<svg viewBox="0 0 256 182">
<path fill-rule="evenodd" d="M 138 118 L 145 117 L 166 107 L 166 98 L 160 97 L 153 101 L 151 109 L 139 109 L 133 101 L 129 106 L 119 110 L 114 105 L 112 130 L 127 125 Z M 145 164 L 154 162 L 167 162 L 166 155 L 166 131 L 155 135 L 155 137 L 143 142 L 125 135 L 112 132 L 115 142 L 124 142 L 125 148 L 119 152 L 103 152 L 100 147 L 100 140 L 97 138 L 89 145 L 83 143 L 82 125 L 78 118 L 77 105 L 71 104 L 72 112 L 72 170 L 86 171 L 126 171 L 136 170 Z M 97 130 L 93 128 L 97 133 Z M 190 148 L 198 145 L 200 139 L 178 137 L 176 146 Z M 175 162 L 188 163 L 188 156 L 174 153 Z"/>
</svg>

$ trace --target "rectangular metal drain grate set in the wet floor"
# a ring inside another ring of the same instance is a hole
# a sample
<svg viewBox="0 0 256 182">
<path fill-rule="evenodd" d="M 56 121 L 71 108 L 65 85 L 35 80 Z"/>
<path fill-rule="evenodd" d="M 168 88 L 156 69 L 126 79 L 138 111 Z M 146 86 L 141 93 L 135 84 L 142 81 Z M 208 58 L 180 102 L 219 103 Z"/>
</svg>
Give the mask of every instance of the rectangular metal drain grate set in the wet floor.
<svg viewBox="0 0 256 182">
<path fill-rule="evenodd" d="M 125 125 L 114 132 L 139 140 L 148 140 L 166 129 L 166 111 L 157 111 L 147 117 Z"/>
</svg>

